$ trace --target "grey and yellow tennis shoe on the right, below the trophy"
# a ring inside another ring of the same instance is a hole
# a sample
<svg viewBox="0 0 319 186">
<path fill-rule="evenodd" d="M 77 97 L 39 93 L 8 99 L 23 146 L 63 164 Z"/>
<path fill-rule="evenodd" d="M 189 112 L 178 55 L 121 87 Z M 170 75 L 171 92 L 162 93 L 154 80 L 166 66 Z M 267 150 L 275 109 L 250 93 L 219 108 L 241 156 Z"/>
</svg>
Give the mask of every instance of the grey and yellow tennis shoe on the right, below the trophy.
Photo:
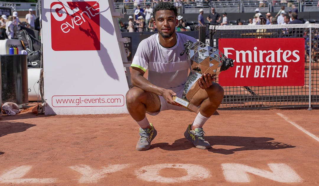
<svg viewBox="0 0 319 186">
<path fill-rule="evenodd" d="M 196 148 L 210 149 L 211 145 L 208 143 L 208 141 L 204 140 L 203 128 L 196 128 L 195 130 L 191 130 L 191 126 L 191 124 L 188 125 L 186 131 L 184 132 L 185 138 L 192 142 Z"/>
</svg>

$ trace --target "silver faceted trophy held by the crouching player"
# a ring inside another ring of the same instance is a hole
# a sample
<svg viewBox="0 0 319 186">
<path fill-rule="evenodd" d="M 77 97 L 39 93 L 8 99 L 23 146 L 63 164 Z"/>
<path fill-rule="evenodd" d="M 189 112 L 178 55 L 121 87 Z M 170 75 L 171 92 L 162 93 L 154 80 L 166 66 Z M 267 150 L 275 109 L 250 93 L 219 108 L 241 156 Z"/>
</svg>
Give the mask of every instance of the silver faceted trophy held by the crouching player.
<svg viewBox="0 0 319 186">
<path fill-rule="evenodd" d="M 173 100 L 190 111 L 196 112 L 198 108 L 191 104 L 190 100 L 200 89 L 198 79 L 203 74 L 208 73 L 211 76 L 217 76 L 221 71 L 233 67 L 234 63 L 232 59 L 226 58 L 219 49 L 207 46 L 200 41 L 194 44 L 188 41 L 184 46 L 189 54 L 191 70 L 185 83 L 182 98 L 173 96 Z"/>
</svg>

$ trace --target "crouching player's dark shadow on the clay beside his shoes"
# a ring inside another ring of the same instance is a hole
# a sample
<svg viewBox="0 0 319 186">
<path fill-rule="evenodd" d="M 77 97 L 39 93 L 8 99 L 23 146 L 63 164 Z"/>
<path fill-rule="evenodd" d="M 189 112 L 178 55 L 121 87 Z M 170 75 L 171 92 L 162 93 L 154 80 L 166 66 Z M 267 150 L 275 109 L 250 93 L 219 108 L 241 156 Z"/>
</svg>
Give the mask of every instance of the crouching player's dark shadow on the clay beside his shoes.
<svg viewBox="0 0 319 186">
<path fill-rule="evenodd" d="M 219 154 L 233 154 L 237 151 L 276 150 L 295 147 L 283 142 L 272 141 L 274 138 L 266 137 L 205 136 L 205 140 L 208 141 L 212 146 L 212 148 L 208 149 L 208 151 Z M 238 148 L 214 148 L 214 145 L 238 146 Z M 168 143 L 153 144 L 151 149 L 157 147 L 167 151 L 180 151 L 195 148 L 195 146 L 186 138 L 177 139 L 172 145 L 169 145 Z"/>
</svg>

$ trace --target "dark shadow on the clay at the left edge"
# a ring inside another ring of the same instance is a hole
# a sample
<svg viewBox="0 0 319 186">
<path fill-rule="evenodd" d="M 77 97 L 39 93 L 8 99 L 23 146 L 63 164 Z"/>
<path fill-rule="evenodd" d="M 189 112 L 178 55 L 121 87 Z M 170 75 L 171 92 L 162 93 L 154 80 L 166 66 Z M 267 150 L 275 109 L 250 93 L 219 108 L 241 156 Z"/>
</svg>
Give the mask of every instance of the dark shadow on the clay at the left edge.
<svg viewBox="0 0 319 186">
<path fill-rule="evenodd" d="M 29 123 L 19 123 L 19 122 L 16 123 L 16 122 L 3 121 L 0 124 L 0 137 L 5 136 L 7 134 L 23 132 L 33 126 L 36 126 L 36 125 L 29 124 Z"/>
</svg>

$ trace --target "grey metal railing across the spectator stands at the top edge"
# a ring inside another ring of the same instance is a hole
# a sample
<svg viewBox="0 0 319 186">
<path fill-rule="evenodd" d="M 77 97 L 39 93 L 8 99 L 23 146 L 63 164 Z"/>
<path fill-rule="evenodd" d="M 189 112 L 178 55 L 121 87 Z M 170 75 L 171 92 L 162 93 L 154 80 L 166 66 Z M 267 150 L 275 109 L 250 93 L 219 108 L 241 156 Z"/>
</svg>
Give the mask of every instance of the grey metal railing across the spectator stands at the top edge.
<svg viewBox="0 0 319 186">
<path fill-rule="evenodd" d="M 146 4 L 150 4 L 154 7 L 156 3 L 153 2 L 141 2 L 139 3 L 142 8 L 146 7 Z M 292 5 L 298 8 L 298 11 L 319 11 L 317 7 L 318 0 L 311 1 L 299 1 L 299 0 L 223 0 L 223 1 L 196 1 L 196 2 L 174 2 L 174 5 L 178 8 L 178 13 L 198 13 L 199 9 L 203 9 L 204 12 L 211 12 L 211 8 L 215 7 L 217 12 L 255 12 L 256 8 L 260 9 L 260 12 L 278 12 L 282 6 L 285 10 L 292 9 Z M 115 9 L 118 12 L 133 14 L 136 9 L 137 3 L 134 2 L 116 2 Z"/>
</svg>

